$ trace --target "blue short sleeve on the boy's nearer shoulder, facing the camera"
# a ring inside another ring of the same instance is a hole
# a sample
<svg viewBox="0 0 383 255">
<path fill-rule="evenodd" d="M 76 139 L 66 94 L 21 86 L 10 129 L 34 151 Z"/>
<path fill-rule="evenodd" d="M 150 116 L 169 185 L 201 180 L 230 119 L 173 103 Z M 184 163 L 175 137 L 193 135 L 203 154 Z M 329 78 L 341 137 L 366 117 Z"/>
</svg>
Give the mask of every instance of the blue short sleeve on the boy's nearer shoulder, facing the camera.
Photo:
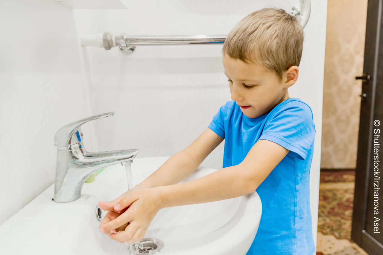
<svg viewBox="0 0 383 255">
<path fill-rule="evenodd" d="M 315 133 L 310 107 L 304 102 L 293 101 L 270 118 L 259 140 L 277 143 L 290 150 L 288 156 L 305 160 Z"/>
</svg>

